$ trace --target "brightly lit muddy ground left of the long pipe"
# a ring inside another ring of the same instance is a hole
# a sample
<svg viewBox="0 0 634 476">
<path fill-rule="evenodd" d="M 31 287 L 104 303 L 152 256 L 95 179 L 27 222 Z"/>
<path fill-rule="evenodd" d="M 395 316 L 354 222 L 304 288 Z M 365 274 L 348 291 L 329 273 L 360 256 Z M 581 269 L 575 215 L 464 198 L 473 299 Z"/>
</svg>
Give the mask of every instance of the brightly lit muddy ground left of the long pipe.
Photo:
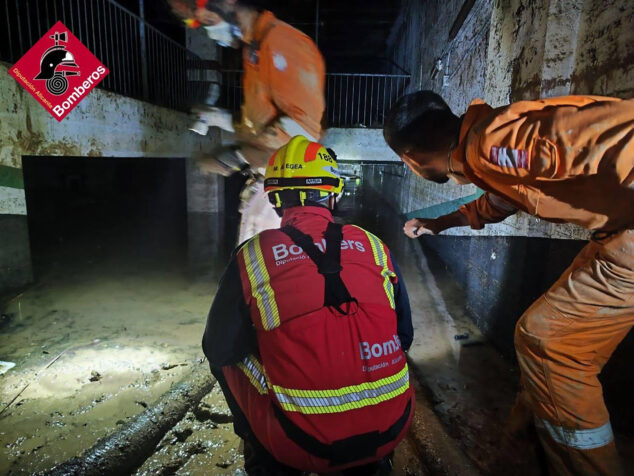
<svg viewBox="0 0 634 476">
<path fill-rule="evenodd" d="M 0 474 L 81 453 L 202 357 L 215 283 L 169 263 L 68 263 L 1 310 L 0 360 L 16 366 L 0 376 L 0 409 L 13 401 L 0 415 Z"/>
</svg>

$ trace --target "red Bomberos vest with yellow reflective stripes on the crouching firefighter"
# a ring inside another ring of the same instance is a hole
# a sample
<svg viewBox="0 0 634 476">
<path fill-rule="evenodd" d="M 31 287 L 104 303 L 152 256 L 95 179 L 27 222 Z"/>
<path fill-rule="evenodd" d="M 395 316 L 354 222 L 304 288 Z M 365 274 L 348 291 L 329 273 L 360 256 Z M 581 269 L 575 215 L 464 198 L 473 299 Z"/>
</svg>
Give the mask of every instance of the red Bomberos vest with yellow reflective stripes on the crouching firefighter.
<svg viewBox="0 0 634 476">
<path fill-rule="evenodd" d="M 286 436 L 331 468 L 391 451 L 413 407 L 387 247 L 355 226 L 287 225 L 237 259 L 260 354 L 238 367 Z"/>
</svg>

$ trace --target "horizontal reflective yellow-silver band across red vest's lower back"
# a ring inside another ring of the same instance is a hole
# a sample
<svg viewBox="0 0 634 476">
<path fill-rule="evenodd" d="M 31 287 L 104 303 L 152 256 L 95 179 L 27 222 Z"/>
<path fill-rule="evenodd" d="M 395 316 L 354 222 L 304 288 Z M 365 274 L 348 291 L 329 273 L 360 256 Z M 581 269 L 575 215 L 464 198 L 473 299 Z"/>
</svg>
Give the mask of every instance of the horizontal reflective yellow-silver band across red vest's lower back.
<svg viewBox="0 0 634 476">
<path fill-rule="evenodd" d="M 304 414 L 340 413 L 376 405 L 405 393 L 408 388 L 407 364 L 390 377 L 337 389 L 300 390 L 273 385 L 284 410 Z"/>
</svg>

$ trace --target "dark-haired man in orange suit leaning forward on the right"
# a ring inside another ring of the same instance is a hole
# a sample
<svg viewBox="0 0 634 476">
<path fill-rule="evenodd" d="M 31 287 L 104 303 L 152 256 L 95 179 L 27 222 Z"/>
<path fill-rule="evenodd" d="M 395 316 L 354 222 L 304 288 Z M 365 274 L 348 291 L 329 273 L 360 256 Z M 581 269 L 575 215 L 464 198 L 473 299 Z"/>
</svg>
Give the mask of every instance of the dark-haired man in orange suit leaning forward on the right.
<svg viewBox="0 0 634 476">
<path fill-rule="evenodd" d="M 634 100 L 568 96 L 462 118 L 431 91 L 402 97 L 387 143 L 418 175 L 486 193 L 410 237 L 480 229 L 517 210 L 583 226 L 592 241 L 520 318 L 523 397 L 555 474 L 624 474 L 598 375 L 634 324 Z"/>
</svg>

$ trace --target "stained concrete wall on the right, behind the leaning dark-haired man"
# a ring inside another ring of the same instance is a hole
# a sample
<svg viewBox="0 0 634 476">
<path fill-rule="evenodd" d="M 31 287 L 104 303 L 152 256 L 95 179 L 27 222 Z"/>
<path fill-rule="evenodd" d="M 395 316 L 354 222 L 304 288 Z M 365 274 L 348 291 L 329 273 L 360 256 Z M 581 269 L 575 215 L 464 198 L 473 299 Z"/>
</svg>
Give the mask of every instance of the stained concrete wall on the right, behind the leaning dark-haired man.
<svg viewBox="0 0 634 476">
<path fill-rule="evenodd" d="M 452 39 L 451 28 L 468 3 L 473 6 Z M 388 55 L 406 62 L 415 78 L 412 89 L 438 92 L 457 114 L 473 98 L 495 107 L 566 94 L 634 96 L 631 1 L 404 0 L 402 5 Z M 418 28 L 411 19 L 419 21 Z M 387 172 L 365 175 L 400 213 L 426 210 L 475 190 L 427 182 L 406 168 Z M 508 355 L 517 318 L 563 271 L 583 245 L 579 240 L 588 238 L 579 227 L 524 213 L 481 231 L 444 235 L 425 238 L 427 249 L 463 285 L 474 320 Z"/>
</svg>

